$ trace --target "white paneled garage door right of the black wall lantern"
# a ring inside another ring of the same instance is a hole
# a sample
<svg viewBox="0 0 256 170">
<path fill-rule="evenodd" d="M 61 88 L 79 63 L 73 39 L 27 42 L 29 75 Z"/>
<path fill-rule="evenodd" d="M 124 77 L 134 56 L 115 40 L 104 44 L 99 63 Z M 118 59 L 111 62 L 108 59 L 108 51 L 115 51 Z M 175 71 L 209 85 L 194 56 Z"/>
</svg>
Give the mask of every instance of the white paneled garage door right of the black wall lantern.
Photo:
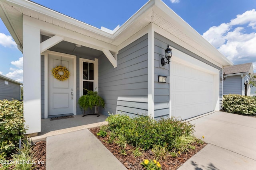
<svg viewBox="0 0 256 170">
<path fill-rule="evenodd" d="M 172 116 L 188 119 L 214 110 L 214 75 L 171 62 Z"/>
</svg>

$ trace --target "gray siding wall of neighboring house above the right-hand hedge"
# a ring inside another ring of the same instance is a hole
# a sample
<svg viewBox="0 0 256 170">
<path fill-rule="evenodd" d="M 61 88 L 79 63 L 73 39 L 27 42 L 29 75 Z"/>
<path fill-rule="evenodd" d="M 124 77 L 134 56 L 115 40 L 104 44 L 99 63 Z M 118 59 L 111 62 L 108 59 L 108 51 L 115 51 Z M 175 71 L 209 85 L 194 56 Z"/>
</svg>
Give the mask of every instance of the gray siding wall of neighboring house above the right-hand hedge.
<svg viewBox="0 0 256 170">
<path fill-rule="evenodd" d="M 242 95 L 242 78 L 241 75 L 228 76 L 223 81 L 223 95 L 226 94 L 240 94 Z"/>
</svg>

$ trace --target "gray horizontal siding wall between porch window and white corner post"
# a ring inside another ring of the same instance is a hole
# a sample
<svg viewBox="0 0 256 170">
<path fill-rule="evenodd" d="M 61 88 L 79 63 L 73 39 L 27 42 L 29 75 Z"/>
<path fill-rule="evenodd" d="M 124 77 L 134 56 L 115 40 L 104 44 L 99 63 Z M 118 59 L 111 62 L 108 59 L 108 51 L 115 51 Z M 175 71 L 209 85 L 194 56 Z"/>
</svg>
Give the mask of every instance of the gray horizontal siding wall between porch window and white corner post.
<svg viewBox="0 0 256 170">
<path fill-rule="evenodd" d="M 148 35 L 119 51 L 116 68 L 104 55 L 98 61 L 98 92 L 106 103 L 100 112 L 148 114 Z"/>
</svg>

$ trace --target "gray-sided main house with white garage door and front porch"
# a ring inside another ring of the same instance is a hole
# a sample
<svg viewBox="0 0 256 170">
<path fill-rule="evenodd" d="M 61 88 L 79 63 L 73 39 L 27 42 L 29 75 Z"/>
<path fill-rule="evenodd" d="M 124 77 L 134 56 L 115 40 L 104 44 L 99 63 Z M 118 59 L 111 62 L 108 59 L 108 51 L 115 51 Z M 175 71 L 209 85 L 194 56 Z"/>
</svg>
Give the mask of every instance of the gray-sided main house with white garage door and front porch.
<svg viewBox="0 0 256 170">
<path fill-rule="evenodd" d="M 232 62 L 161 0 L 148 1 L 114 30 L 28 0 L 0 0 L 0 8 L 23 52 L 27 133 L 40 132 L 41 119 L 82 114 L 84 88 L 97 88 L 105 115 L 188 119 L 220 110 L 222 68 Z M 162 66 L 168 45 L 172 57 Z M 70 72 L 65 81 L 52 76 L 60 64 Z"/>
</svg>

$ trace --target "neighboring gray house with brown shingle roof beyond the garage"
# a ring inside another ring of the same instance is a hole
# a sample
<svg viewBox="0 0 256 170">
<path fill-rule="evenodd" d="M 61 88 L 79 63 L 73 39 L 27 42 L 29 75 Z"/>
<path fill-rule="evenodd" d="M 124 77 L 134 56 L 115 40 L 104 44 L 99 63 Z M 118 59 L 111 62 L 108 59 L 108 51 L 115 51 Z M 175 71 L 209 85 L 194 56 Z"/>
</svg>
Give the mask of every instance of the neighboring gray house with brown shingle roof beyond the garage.
<svg viewBox="0 0 256 170">
<path fill-rule="evenodd" d="M 250 96 L 250 74 L 253 74 L 252 63 L 224 66 L 223 72 L 227 78 L 223 81 L 223 95 L 240 94 Z"/>
</svg>

